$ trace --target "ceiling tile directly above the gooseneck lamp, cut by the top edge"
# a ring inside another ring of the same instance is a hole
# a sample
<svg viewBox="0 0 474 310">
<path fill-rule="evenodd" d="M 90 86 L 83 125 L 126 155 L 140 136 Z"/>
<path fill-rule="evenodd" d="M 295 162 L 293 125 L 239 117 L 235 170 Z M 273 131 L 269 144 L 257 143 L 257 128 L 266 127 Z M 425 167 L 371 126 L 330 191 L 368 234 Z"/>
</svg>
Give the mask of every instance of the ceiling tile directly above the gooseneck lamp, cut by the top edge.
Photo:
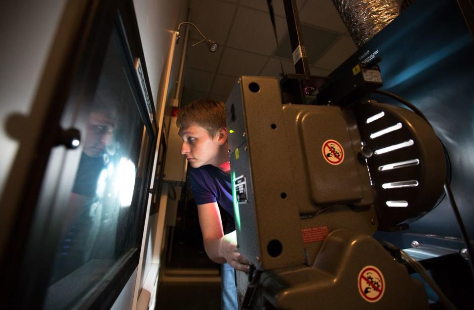
<svg viewBox="0 0 474 310">
<path fill-rule="evenodd" d="M 236 4 L 217 0 L 191 0 L 191 21 L 207 38 L 218 44 L 224 44 L 236 7 Z M 197 30 L 192 26 L 190 36 L 194 39 L 201 39 Z"/>
</svg>

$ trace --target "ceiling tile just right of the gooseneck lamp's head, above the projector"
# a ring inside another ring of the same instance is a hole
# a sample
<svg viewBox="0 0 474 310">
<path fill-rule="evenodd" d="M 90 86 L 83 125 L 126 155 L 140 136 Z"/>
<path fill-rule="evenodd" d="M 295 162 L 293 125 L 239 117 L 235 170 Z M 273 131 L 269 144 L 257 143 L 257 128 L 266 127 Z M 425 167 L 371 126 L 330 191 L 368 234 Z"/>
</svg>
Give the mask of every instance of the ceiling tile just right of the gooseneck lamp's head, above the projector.
<svg viewBox="0 0 474 310">
<path fill-rule="evenodd" d="M 229 47 L 226 47 L 223 53 L 217 72 L 230 76 L 258 75 L 267 61 L 266 56 Z"/>
</svg>

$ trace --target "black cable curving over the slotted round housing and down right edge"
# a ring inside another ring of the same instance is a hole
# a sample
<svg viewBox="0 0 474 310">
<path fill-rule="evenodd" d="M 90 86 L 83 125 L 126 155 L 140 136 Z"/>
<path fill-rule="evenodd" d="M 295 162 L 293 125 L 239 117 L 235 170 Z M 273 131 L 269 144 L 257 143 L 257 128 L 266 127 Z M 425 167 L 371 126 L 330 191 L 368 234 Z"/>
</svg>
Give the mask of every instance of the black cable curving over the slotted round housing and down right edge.
<svg viewBox="0 0 474 310">
<path fill-rule="evenodd" d="M 430 121 L 428 121 L 426 116 L 412 103 L 406 101 L 405 99 L 403 99 L 403 98 L 401 98 L 401 97 L 399 97 L 399 96 L 397 96 L 393 93 L 387 92 L 387 91 L 375 90 L 375 91 L 373 91 L 373 93 L 388 96 L 392 99 L 395 99 L 396 101 L 398 101 L 400 103 L 405 104 L 410 109 L 412 109 L 413 112 L 415 112 L 418 116 L 423 118 L 428 123 L 428 125 L 430 125 L 430 127 L 433 129 L 433 126 L 431 126 Z M 439 139 L 439 137 L 438 137 L 438 139 Z M 445 153 L 447 153 L 446 148 L 444 147 L 444 144 L 442 143 L 441 139 L 439 139 L 439 141 L 441 142 L 441 145 L 443 146 Z M 473 246 L 471 244 L 471 240 L 469 239 L 469 235 L 468 235 L 468 232 L 466 230 L 466 226 L 464 225 L 463 219 L 461 218 L 461 213 L 459 212 L 458 205 L 456 204 L 456 201 L 454 200 L 454 195 L 451 191 L 450 183 L 451 183 L 451 180 L 448 179 L 448 175 L 446 174 L 446 180 L 444 181 L 444 191 L 446 192 L 446 195 L 448 196 L 448 200 L 449 200 L 449 202 L 451 204 L 451 207 L 453 209 L 454 216 L 456 217 L 456 221 L 458 222 L 459 230 L 461 231 L 461 235 L 464 239 L 464 244 L 466 245 L 466 249 L 467 249 L 468 254 L 469 254 L 469 265 L 471 267 L 471 275 L 472 275 L 473 281 L 474 281 L 474 264 L 473 264 L 474 251 L 473 251 Z"/>
</svg>

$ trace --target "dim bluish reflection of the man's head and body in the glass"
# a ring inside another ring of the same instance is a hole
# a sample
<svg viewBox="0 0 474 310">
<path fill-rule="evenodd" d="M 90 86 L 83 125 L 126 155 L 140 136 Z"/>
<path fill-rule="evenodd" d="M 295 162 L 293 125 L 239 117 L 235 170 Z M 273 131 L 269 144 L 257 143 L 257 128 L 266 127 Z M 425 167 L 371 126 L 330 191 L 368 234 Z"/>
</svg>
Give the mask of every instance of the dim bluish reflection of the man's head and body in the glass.
<svg viewBox="0 0 474 310">
<path fill-rule="evenodd" d="M 92 258 L 101 221 L 104 220 L 103 193 L 98 193 L 101 177 L 115 154 L 115 104 L 115 96 L 99 93 L 91 106 L 51 283 L 71 274 Z"/>
</svg>

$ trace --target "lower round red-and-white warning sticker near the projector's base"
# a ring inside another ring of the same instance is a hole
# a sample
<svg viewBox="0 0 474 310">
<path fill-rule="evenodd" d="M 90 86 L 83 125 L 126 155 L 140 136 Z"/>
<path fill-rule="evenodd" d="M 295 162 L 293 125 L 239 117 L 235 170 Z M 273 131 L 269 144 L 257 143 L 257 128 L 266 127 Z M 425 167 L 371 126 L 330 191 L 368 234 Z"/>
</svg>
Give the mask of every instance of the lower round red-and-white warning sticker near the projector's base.
<svg viewBox="0 0 474 310">
<path fill-rule="evenodd" d="M 385 291 L 385 279 L 382 272 L 375 266 L 365 266 L 357 277 L 360 296 L 369 303 L 378 302 Z"/>
</svg>

